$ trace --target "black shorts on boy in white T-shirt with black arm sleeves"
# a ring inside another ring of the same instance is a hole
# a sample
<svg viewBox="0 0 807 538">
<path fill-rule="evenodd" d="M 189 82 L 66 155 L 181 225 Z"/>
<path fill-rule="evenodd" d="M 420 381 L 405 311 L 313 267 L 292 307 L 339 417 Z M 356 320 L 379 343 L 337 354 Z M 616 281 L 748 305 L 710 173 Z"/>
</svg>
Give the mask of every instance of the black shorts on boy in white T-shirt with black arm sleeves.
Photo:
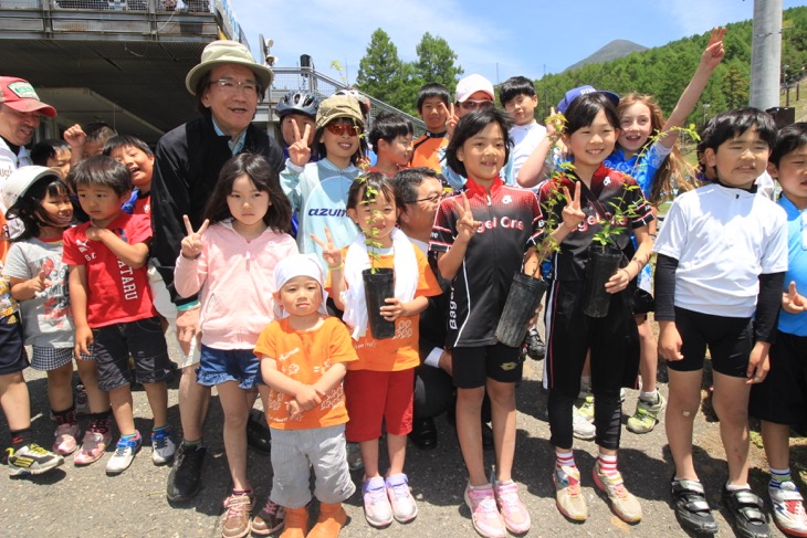
<svg viewBox="0 0 807 538">
<path fill-rule="evenodd" d="M 703 369 L 706 348 L 712 370 L 733 378 L 744 378 L 754 346 L 754 324 L 748 317 L 724 317 L 675 307 L 675 328 L 681 335 L 683 359 L 667 361 L 675 371 Z"/>
</svg>

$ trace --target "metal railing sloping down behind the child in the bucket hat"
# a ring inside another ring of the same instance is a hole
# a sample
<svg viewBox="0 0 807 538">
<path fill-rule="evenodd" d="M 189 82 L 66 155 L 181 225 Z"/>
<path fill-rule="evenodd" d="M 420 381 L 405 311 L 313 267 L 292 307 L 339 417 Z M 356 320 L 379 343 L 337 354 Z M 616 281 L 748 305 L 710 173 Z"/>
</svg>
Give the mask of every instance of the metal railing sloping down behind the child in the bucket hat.
<svg viewBox="0 0 807 538">
<path fill-rule="evenodd" d="M 274 81 L 269 91 L 269 104 L 272 110 L 281 97 L 292 89 L 305 89 L 319 94 L 323 98 L 334 95 L 339 89 L 347 89 L 349 86 L 345 83 L 335 81 L 328 76 L 317 73 L 310 67 L 272 67 L 274 72 Z M 366 94 L 365 94 L 366 95 Z M 373 120 L 381 112 L 390 112 L 398 114 L 411 120 L 415 127 L 415 135 L 420 136 L 426 131 L 426 124 L 420 118 L 411 116 L 382 101 L 367 96 L 370 99 L 370 120 Z"/>
</svg>

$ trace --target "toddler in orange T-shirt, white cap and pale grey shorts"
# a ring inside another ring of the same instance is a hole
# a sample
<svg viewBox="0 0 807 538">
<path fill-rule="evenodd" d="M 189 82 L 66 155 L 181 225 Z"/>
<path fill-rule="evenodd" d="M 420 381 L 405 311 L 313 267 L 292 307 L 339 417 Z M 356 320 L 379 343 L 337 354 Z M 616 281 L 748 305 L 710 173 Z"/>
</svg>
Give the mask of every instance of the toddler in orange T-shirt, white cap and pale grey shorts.
<svg viewBox="0 0 807 538">
<path fill-rule="evenodd" d="M 283 538 L 335 538 L 347 520 L 342 503 L 356 490 L 347 467 L 342 380 L 345 363 L 358 357 L 345 325 L 325 310 L 325 276 L 316 256 L 282 260 L 274 282 L 280 317 L 263 329 L 255 345 L 263 380 L 271 389 L 270 498 L 285 508 Z M 306 534 L 310 466 L 319 518 Z"/>
</svg>

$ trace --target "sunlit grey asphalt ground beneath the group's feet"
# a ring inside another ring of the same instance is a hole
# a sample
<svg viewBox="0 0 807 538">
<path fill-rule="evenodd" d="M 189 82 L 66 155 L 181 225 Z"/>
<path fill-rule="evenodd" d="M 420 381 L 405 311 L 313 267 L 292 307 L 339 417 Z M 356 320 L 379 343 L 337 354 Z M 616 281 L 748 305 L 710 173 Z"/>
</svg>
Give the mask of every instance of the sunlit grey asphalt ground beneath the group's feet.
<svg viewBox="0 0 807 538">
<path fill-rule="evenodd" d="M 596 447 L 591 442 L 577 443 L 577 464 L 583 474 L 584 490 L 589 506 L 589 519 L 573 524 L 555 508 L 554 486 L 551 479 L 553 465 L 548 443 L 549 428 L 546 419 L 546 393 L 541 389 L 543 362 L 528 360 L 525 380 L 518 395 L 518 432 L 516 445 L 515 479 L 522 485 L 523 499 L 533 518 L 531 537 L 566 536 L 685 536 L 668 505 L 669 478 L 672 473 L 669 452 L 664 449 L 662 428 L 646 435 L 635 435 L 625 430 L 620 468 L 630 489 L 640 498 L 644 510 L 642 523 L 629 526 L 617 519 L 606 500 L 598 495 L 590 479 Z M 33 428 L 36 440 L 48 444 L 53 424 L 48 419 L 45 379 L 39 372 L 28 370 L 33 400 Z M 174 388 L 176 389 L 176 387 Z M 661 386 L 665 392 L 665 386 Z M 632 410 L 636 394 L 630 394 L 625 410 Z M 176 390 L 170 391 L 170 420 L 179 424 Z M 135 393 L 136 423 L 148 439 L 150 422 L 145 392 Z M 208 458 L 205 468 L 205 488 L 190 504 L 170 506 L 165 497 L 167 467 L 151 464 L 150 447 L 145 447 L 124 474 L 108 477 L 104 473 L 106 457 L 85 468 L 67 462 L 54 472 L 34 478 L 7 478 L 0 476 L 0 536 L 59 536 L 59 537 L 219 537 L 221 502 L 228 494 L 229 475 L 223 446 L 217 426 L 221 424 L 221 410 L 214 398 L 207 424 Z M 364 519 L 358 495 L 347 505 L 352 521 L 343 531 L 346 538 L 358 537 L 471 537 L 476 536 L 470 521 L 470 513 L 462 504 L 465 473 L 453 430 L 444 419 L 438 420 L 439 446 L 420 452 L 410 445 L 407 473 L 413 495 L 418 499 L 420 515 L 409 525 L 394 523 L 389 528 L 370 528 Z M 8 424 L 0 416 L 0 435 L 8 441 Z M 710 504 L 720 506 L 720 487 L 725 481 L 725 465 L 720 444 L 717 424 L 701 418 L 696 425 L 695 443 L 703 447 L 696 454 L 698 466 L 704 479 Z M 711 452 L 711 453 L 708 453 Z M 492 463 L 492 451 L 486 452 Z M 261 503 L 271 487 L 269 455 L 250 451 L 249 472 Z M 360 481 L 355 474 L 354 479 Z M 759 487 L 766 478 L 758 468 L 752 470 L 752 484 Z M 358 482 L 357 482 L 358 483 Z M 723 514 L 720 519 L 721 537 L 734 536 Z M 783 536 L 774 529 L 774 536 Z"/>
</svg>

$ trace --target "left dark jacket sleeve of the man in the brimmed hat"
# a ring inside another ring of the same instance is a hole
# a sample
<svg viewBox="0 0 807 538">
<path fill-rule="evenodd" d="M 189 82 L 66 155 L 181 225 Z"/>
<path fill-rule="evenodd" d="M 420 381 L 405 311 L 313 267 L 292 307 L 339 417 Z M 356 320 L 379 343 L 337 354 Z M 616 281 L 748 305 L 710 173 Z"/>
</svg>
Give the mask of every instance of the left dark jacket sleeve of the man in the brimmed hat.
<svg viewBox="0 0 807 538">
<path fill-rule="evenodd" d="M 181 298 L 174 288 L 174 264 L 186 233 L 182 215 L 190 212 L 188 147 L 184 128 L 187 126 L 160 138 L 151 178 L 151 257 L 157 262 L 157 271 L 168 286 L 171 300 L 178 305 L 196 299 Z"/>
</svg>

